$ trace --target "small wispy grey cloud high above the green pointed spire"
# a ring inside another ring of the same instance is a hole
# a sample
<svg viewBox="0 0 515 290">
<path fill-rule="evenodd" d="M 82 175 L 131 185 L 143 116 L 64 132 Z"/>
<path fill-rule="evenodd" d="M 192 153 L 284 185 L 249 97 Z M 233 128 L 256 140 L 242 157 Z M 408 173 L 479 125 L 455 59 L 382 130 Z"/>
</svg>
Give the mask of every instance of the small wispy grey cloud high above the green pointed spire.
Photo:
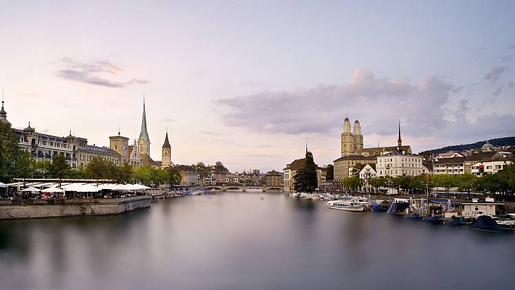
<svg viewBox="0 0 515 290">
<path fill-rule="evenodd" d="M 148 84 L 148 80 L 141 80 L 133 78 L 127 82 L 119 82 L 115 80 L 108 80 L 95 76 L 95 74 L 118 74 L 120 69 L 117 65 L 113 65 L 108 61 L 96 61 L 94 63 L 81 63 L 71 58 L 61 58 L 62 64 L 65 65 L 65 69 L 60 69 L 57 72 L 59 78 L 65 80 L 72 80 L 75 82 L 83 82 L 89 85 L 98 85 L 102 87 L 120 88 L 126 87 L 127 85 L 144 85 Z"/>
</svg>

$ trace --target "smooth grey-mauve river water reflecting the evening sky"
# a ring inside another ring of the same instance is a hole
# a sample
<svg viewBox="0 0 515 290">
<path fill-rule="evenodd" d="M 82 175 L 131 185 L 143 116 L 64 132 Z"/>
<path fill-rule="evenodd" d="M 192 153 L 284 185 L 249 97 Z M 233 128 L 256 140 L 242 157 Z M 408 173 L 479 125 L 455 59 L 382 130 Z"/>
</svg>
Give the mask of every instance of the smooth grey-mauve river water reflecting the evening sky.
<svg viewBox="0 0 515 290">
<path fill-rule="evenodd" d="M 0 221 L 0 289 L 514 289 L 515 236 L 261 195 Z"/>
</svg>

